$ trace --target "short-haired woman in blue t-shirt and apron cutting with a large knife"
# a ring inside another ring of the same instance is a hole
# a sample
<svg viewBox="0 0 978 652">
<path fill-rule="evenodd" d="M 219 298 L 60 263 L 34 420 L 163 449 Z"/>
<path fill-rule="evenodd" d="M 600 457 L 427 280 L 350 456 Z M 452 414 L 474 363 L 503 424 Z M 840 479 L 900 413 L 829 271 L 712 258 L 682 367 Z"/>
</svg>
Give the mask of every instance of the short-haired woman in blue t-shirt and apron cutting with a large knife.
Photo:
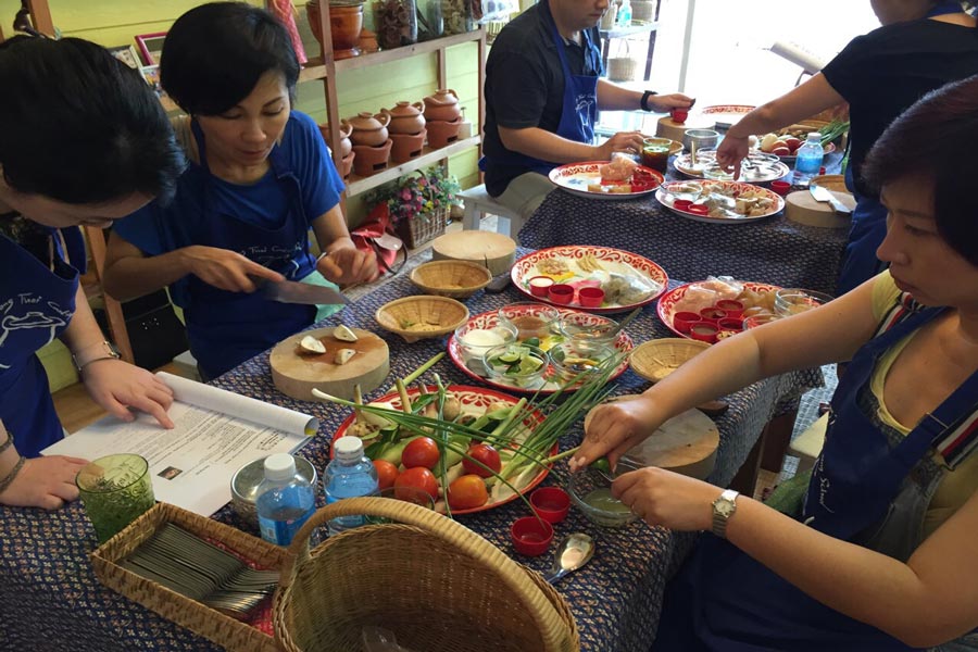
<svg viewBox="0 0 978 652">
<path fill-rule="evenodd" d="M 192 9 L 166 35 L 160 79 L 190 115 L 175 127 L 191 163 L 174 201 L 114 229 L 105 287 L 128 299 L 170 286 L 205 378 L 329 314 L 267 300 L 254 291 L 260 281 L 377 275 L 373 254 L 350 239 L 343 185 L 318 128 L 291 110 L 298 78 L 288 32 L 244 3 Z"/>
</svg>

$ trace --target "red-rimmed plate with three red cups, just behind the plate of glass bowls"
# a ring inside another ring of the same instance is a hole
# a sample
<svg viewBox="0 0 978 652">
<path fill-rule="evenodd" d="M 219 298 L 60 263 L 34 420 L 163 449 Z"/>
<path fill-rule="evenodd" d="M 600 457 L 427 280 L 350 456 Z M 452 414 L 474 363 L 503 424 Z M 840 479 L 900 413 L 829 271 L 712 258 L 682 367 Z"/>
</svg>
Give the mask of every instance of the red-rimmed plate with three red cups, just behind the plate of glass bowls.
<svg viewBox="0 0 978 652">
<path fill-rule="evenodd" d="M 542 265 L 542 266 L 541 266 Z M 566 267 L 566 271 L 563 271 Z M 609 298 L 606 287 L 605 302 L 600 308 L 584 308 L 577 303 L 577 292 L 567 305 L 553 303 L 546 297 L 535 297 L 529 289 L 529 279 L 534 276 L 549 276 L 555 283 L 574 286 L 575 289 L 602 286 L 612 280 L 612 274 L 629 280 L 635 287 L 624 302 Z M 529 253 L 513 265 L 510 273 L 513 286 L 527 296 L 530 301 L 542 301 L 557 308 L 570 308 L 597 314 L 626 312 L 640 305 L 655 301 L 669 285 L 665 269 L 637 253 L 612 249 L 610 247 L 590 247 L 572 244 L 551 247 Z M 648 293 L 644 291 L 648 290 Z"/>
</svg>

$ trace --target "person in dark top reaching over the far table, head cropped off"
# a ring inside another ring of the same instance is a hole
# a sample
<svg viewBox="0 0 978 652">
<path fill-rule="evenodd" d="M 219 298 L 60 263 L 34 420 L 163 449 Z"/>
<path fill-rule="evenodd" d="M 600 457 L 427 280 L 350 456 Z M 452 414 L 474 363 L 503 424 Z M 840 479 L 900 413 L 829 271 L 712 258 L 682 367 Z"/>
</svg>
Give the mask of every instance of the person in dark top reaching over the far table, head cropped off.
<svg viewBox="0 0 978 652">
<path fill-rule="evenodd" d="M 849 105 L 847 187 L 856 198 L 838 294 L 878 274 L 876 248 L 886 209 L 863 181 L 863 161 L 893 120 L 926 93 L 978 74 L 978 27 L 970 0 L 870 0 L 882 27 L 853 39 L 820 73 L 745 115 L 728 131 L 717 160 L 739 171 L 750 136 L 762 136 Z M 844 113 L 843 113 L 844 115 Z"/>
</svg>

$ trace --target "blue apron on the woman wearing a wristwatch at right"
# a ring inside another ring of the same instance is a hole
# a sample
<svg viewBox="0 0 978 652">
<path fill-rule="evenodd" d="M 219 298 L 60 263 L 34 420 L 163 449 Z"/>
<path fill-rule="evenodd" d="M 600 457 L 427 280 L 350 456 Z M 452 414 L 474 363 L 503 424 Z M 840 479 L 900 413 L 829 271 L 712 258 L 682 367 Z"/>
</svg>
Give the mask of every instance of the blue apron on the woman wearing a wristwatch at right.
<svg viewBox="0 0 978 652">
<path fill-rule="evenodd" d="M 904 478 L 961 415 L 974 411 L 978 373 L 898 446 L 860 408 L 877 360 L 940 314 L 920 311 L 856 354 L 832 397 L 825 447 L 815 464 L 803 516 L 832 537 L 852 540 L 887 516 Z M 654 650 L 723 652 L 912 650 L 889 635 L 804 594 L 729 542 L 703 537 L 669 585 Z"/>
</svg>

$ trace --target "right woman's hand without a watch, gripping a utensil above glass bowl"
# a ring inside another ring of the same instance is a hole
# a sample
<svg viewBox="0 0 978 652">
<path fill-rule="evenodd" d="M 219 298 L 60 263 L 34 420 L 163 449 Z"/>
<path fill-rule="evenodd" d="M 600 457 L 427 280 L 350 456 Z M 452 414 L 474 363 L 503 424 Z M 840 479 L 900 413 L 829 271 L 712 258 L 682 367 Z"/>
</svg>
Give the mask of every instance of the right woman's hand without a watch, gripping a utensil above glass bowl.
<svg viewBox="0 0 978 652">
<path fill-rule="evenodd" d="M 570 460 L 570 471 L 587 466 L 602 455 L 607 455 L 614 467 L 618 457 L 655 431 L 661 418 L 652 400 L 638 396 L 592 408 L 585 424 L 587 432 Z"/>
</svg>

